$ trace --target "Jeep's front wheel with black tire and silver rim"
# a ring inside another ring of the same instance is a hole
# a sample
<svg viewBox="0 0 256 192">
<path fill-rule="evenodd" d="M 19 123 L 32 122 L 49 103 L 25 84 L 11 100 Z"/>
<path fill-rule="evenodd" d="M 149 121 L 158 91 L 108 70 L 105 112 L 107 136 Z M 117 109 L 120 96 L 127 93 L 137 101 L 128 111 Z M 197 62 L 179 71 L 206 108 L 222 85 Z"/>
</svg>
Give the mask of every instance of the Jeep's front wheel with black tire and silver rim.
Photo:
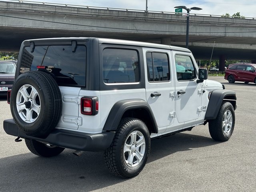
<svg viewBox="0 0 256 192">
<path fill-rule="evenodd" d="M 230 102 L 223 102 L 215 120 L 209 121 L 209 132 L 216 141 L 230 139 L 235 126 L 235 112 Z"/>
</svg>

